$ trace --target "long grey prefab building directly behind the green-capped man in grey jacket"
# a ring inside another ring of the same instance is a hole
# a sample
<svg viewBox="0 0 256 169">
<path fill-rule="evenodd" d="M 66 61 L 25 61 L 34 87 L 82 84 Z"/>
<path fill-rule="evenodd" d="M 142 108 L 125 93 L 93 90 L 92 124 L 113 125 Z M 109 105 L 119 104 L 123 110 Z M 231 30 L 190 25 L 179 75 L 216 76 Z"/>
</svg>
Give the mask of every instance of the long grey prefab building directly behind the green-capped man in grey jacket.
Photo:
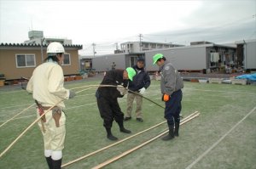
<svg viewBox="0 0 256 169">
<path fill-rule="evenodd" d="M 188 71 L 224 70 L 225 65 L 236 60 L 236 47 L 214 43 L 152 50 L 145 53 L 145 59 L 153 63 L 152 56 L 158 53 L 164 54 L 177 70 Z M 156 70 L 155 65 L 148 64 L 147 70 Z"/>
</svg>

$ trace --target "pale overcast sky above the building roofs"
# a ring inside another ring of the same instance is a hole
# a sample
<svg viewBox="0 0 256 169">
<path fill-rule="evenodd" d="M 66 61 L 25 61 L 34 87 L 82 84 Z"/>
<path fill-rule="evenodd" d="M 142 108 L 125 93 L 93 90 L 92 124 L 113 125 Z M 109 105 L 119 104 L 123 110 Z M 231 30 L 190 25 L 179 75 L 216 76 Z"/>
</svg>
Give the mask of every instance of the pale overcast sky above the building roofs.
<svg viewBox="0 0 256 169">
<path fill-rule="evenodd" d="M 113 54 L 115 43 L 193 41 L 215 43 L 256 38 L 255 0 L 37 1 L 0 0 L 0 42 L 24 42 L 28 31 L 82 44 L 82 55 Z"/>
</svg>

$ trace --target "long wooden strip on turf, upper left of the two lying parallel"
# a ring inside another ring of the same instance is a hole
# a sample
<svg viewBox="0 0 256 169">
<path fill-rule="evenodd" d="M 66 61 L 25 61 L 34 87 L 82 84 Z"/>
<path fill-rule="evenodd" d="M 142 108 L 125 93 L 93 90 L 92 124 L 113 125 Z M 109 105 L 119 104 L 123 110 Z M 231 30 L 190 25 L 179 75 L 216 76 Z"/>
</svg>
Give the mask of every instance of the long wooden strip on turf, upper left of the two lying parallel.
<svg viewBox="0 0 256 169">
<path fill-rule="evenodd" d="M 185 121 L 186 119 L 189 119 L 191 116 L 196 115 L 196 114 L 198 114 L 198 111 L 195 111 L 194 113 L 188 115 L 188 116 L 185 117 L 182 121 Z M 113 147 L 113 146 L 115 146 L 115 145 L 117 145 L 117 144 L 121 144 L 121 143 L 125 142 L 125 141 L 128 140 L 128 139 L 134 138 L 134 137 L 136 137 L 136 136 L 142 134 L 143 132 L 147 132 L 148 130 L 153 129 L 154 127 L 159 127 L 160 125 L 162 125 L 162 124 L 164 124 L 164 123 L 166 123 L 166 121 L 162 121 L 162 122 L 160 122 L 159 124 L 154 125 L 153 127 L 149 127 L 148 129 L 145 129 L 145 130 L 143 130 L 142 132 L 137 132 L 136 134 L 133 134 L 132 136 L 130 136 L 130 137 L 128 137 L 128 138 L 124 138 L 124 139 L 122 139 L 122 140 L 119 140 L 118 142 L 115 142 L 115 143 L 110 144 L 110 145 L 108 145 L 108 146 L 106 146 L 106 147 L 103 147 L 102 149 L 97 149 L 96 151 L 93 151 L 93 152 L 91 152 L 91 153 L 89 153 L 89 154 L 87 154 L 87 155 L 81 156 L 81 157 L 79 157 L 78 159 L 75 159 L 75 160 L 73 160 L 73 161 L 69 161 L 69 162 L 67 162 L 66 164 L 63 164 L 61 167 L 69 166 L 69 165 L 71 165 L 71 164 L 73 164 L 73 163 L 75 163 L 75 162 L 84 160 L 85 158 L 87 158 L 87 157 L 89 157 L 89 156 L 91 156 L 91 155 L 96 155 L 97 153 L 102 152 L 102 151 L 105 150 L 105 149 L 109 149 L 109 148 L 111 148 L 111 147 Z"/>
</svg>

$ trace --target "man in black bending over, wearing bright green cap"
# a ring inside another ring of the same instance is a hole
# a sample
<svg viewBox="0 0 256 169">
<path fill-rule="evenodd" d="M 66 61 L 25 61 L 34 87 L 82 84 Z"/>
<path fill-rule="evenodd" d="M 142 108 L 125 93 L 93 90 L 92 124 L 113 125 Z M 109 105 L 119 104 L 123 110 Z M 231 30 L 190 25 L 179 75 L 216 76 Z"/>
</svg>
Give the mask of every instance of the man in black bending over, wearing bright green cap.
<svg viewBox="0 0 256 169">
<path fill-rule="evenodd" d="M 122 87 L 127 87 L 128 79 L 132 81 L 132 77 L 135 75 L 136 71 L 131 67 L 125 70 L 109 70 L 104 76 L 101 85 L 121 85 Z M 119 87 L 98 87 L 96 91 L 98 109 L 103 119 L 103 126 L 106 128 L 108 134 L 107 138 L 110 140 L 118 139 L 111 132 L 113 120 L 119 124 L 120 132 L 131 132 L 124 127 L 124 113 L 118 103 L 118 98 L 124 97 L 125 90 L 120 92 L 119 89 Z"/>
</svg>

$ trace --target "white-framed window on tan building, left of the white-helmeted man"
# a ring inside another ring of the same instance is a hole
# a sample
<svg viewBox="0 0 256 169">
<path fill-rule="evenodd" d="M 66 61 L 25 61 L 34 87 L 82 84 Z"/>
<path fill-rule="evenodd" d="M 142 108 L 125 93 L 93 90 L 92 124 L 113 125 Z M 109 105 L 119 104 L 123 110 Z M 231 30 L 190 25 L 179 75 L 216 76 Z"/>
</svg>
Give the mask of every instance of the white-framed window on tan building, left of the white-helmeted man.
<svg viewBox="0 0 256 169">
<path fill-rule="evenodd" d="M 16 54 L 16 66 L 22 67 L 36 67 L 35 54 Z"/>
</svg>

